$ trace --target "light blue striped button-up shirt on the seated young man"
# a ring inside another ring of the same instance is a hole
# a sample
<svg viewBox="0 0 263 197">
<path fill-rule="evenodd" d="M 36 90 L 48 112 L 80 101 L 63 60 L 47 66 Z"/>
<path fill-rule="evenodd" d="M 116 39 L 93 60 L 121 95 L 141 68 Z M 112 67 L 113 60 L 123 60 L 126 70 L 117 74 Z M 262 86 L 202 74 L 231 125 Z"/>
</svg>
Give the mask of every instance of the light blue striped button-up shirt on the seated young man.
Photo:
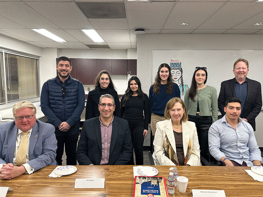
<svg viewBox="0 0 263 197">
<path fill-rule="evenodd" d="M 253 166 L 253 160 L 263 162 L 261 152 L 257 146 L 252 126 L 238 117 L 239 123 L 234 129 L 226 121 L 226 115 L 215 121 L 208 131 L 210 154 L 217 160 L 221 157 L 234 160 L 247 166 Z"/>
</svg>

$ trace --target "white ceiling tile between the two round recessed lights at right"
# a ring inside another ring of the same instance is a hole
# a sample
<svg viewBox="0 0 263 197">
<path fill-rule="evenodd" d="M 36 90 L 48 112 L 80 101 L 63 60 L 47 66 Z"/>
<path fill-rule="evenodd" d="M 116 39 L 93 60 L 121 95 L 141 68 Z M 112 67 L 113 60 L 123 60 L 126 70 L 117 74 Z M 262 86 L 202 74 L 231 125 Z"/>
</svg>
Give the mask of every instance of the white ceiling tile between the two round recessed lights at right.
<svg viewBox="0 0 263 197">
<path fill-rule="evenodd" d="M 198 29 L 230 29 L 262 10 L 263 3 L 227 2 Z"/>
</svg>

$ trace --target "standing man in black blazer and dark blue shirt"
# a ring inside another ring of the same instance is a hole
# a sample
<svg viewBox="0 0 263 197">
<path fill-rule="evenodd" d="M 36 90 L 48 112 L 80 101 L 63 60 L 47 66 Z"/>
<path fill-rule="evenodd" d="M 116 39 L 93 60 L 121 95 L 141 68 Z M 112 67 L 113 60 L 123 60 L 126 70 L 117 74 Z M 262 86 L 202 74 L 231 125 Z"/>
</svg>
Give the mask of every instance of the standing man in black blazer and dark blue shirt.
<svg viewBox="0 0 263 197">
<path fill-rule="evenodd" d="M 240 117 L 250 123 L 256 131 L 255 118 L 259 115 L 262 107 L 261 84 L 258 81 L 247 78 L 248 61 L 239 58 L 234 63 L 234 79 L 221 83 L 218 96 L 218 108 L 224 116 L 224 106 L 227 98 L 237 97 L 242 101 Z"/>
</svg>

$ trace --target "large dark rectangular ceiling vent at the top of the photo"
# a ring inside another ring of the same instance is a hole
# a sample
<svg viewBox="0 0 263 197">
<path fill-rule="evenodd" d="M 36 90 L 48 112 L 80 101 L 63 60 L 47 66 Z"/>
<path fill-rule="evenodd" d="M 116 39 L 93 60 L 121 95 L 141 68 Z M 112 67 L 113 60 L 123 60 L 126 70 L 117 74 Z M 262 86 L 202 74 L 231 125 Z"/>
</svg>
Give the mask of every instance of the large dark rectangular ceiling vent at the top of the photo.
<svg viewBox="0 0 263 197">
<path fill-rule="evenodd" d="M 87 18 L 126 18 L 124 3 L 76 3 Z"/>
</svg>

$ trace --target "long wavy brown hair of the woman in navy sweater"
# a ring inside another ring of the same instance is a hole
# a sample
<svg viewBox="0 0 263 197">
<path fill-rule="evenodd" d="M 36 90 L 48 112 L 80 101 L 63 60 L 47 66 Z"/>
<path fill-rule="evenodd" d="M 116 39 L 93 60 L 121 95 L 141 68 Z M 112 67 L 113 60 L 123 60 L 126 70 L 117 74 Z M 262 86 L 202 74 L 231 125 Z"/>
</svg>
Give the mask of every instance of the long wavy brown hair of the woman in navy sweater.
<svg viewBox="0 0 263 197">
<path fill-rule="evenodd" d="M 160 89 L 161 89 L 161 78 L 160 78 L 160 71 L 161 68 L 166 67 L 169 70 L 169 76 L 167 79 L 167 86 L 166 86 L 166 93 L 165 94 L 172 94 L 173 92 L 173 79 L 172 79 L 172 74 L 171 74 L 171 68 L 168 64 L 161 64 L 158 68 L 155 81 L 153 83 L 153 92 L 154 94 L 160 94 Z"/>
</svg>

